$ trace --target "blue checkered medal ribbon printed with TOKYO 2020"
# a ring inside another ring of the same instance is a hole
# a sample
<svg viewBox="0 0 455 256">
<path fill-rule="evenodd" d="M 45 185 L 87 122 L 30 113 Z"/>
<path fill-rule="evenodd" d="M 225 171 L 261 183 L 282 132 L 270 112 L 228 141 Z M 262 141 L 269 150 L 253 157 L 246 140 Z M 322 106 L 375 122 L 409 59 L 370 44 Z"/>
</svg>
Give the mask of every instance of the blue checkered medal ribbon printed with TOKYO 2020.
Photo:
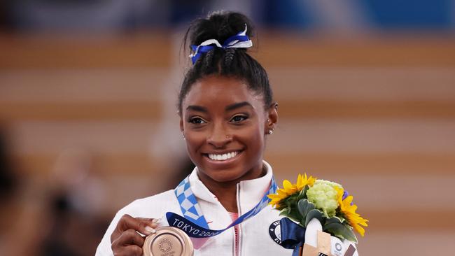
<svg viewBox="0 0 455 256">
<path fill-rule="evenodd" d="M 237 220 L 228 225 L 228 227 L 213 230 L 209 229 L 207 220 L 205 220 L 201 208 L 199 204 L 197 204 L 197 199 L 191 190 L 190 179 L 186 177 L 174 190 L 184 217 L 177 213 L 167 212 L 167 222 L 169 223 L 169 226 L 177 227 L 183 230 L 183 232 L 188 234 L 190 237 L 204 238 L 216 236 L 258 214 L 263 208 L 265 208 L 265 206 L 267 206 L 267 204 L 269 204 L 270 199 L 267 197 L 267 194 L 275 194 L 276 188 L 277 185 L 272 177 L 269 189 L 265 192 L 258 204 L 256 204 L 250 211 L 237 218 Z"/>
</svg>

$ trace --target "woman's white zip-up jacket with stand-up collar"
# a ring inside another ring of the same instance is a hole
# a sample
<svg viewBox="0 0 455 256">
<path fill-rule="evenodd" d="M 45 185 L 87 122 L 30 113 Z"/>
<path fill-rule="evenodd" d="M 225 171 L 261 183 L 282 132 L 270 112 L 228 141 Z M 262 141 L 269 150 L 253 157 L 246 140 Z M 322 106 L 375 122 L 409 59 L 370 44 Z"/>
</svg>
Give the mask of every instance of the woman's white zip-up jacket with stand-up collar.
<svg viewBox="0 0 455 256">
<path fill-rule="evenodd" d="M 272 167 L 267 162 L 264 163 L 267 167 L 265 176 L 254 180 L 244 180 L 237 184 L 239 215 L 246 213 L 258 204 L 269 188 L 270 180 L 272 179 Z M 232 219 L 228 211 L 197 177 L 197 169 L 190 174 L 190 185 L 204 213 L 204 217 L 209 223 L 210 229 L 224 229 L 230 225 Z M 168 211 L 183 215 L 174 190 L 133 201 L 118 211 L 113 218 L 101 243 L 99 243 L 96 255 L 113 255 L 111 234 L 122 215 L 129 214 L 135 218 L 162 218 Z M 239 224 L 239 255 L 292 255 L 293 250 L 279 246 L 269 234 L 270 225 L 280 219 L 279 211 L 272 209 L 272 206 L 267 206 L 253 218 Z M 195 250 L 195 256 L 231 256 L 235 255 L 234 252 L 235 233 L 234 229 L 231 228 L 218 236 L 210 238 L 199 250 Z"/>
</svg>

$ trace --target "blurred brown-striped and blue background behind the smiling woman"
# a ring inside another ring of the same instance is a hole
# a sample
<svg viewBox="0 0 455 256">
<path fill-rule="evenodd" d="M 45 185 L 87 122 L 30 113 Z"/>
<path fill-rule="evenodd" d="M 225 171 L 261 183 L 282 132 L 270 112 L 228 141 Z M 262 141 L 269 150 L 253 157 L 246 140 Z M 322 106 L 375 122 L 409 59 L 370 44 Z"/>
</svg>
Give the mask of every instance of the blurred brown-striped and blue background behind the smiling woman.
<svg viewBox="0 0 455 256">
<path fill-rule="evenodd" d="M 181 39 L 220 9 L 258 27 L 276 179 L 342 183 L 360 255 L 449 254 L 454 0 L 0 1 L 1 254 L 93 255 L 116 211 L 191 171 Z"/>
</svg>

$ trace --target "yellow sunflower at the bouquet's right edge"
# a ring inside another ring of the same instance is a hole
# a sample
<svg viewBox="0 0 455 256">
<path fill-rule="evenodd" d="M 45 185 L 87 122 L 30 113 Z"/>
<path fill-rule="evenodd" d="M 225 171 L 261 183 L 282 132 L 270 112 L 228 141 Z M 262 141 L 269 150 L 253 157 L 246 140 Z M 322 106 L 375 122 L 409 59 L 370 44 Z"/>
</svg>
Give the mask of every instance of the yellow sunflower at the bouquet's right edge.
<svg viewBox="0 0 455 256">
<path fill-rule="evenodd" d="M 363 236 L 365 234 L 365 229 L 363 229 L 363 227 L 368 227 L 368 220 L 360 217 L 360 214 L 356 213 L 357 206 L 352 204 L 352 196 L 343 199 L 344 189 L 342 187 L 335 187 L 335 190 L 337 190 L 337 201 L 344 217 L 349 222 L 349 225 L 351 225 L 358 234 Z"/>
</svg>

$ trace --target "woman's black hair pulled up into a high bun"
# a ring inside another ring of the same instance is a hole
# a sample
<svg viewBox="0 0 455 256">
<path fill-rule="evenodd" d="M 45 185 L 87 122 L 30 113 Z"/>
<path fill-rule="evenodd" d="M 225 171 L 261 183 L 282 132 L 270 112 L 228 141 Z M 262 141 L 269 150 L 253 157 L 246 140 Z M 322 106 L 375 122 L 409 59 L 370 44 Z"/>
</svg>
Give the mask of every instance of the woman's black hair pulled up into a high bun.
<svg viewBox="0 0 455 256">
<path fill-rule="evenodd" d="M 183 45 L 200 45 L 209 39 L 223 42 L 244 31 L 252 37 L 254 27 L 251 21 L 241 13 L 218 11 L 211 13 L 207 18 L 193 21 L 183 38 Z M 182 111 L 182 101 L 190 91 L 191 86 L 201 78 L 216 75 L 243 80 L 249 90 L 262 95 L 265 107 L 272 104 L 272 89 L 265 69 L 253 57 L 248 55 L 247 48 L 218 48 L 215 47 L 204 53 L 185 75 L 179 93 L 179 113 Z"/>
</svg>

